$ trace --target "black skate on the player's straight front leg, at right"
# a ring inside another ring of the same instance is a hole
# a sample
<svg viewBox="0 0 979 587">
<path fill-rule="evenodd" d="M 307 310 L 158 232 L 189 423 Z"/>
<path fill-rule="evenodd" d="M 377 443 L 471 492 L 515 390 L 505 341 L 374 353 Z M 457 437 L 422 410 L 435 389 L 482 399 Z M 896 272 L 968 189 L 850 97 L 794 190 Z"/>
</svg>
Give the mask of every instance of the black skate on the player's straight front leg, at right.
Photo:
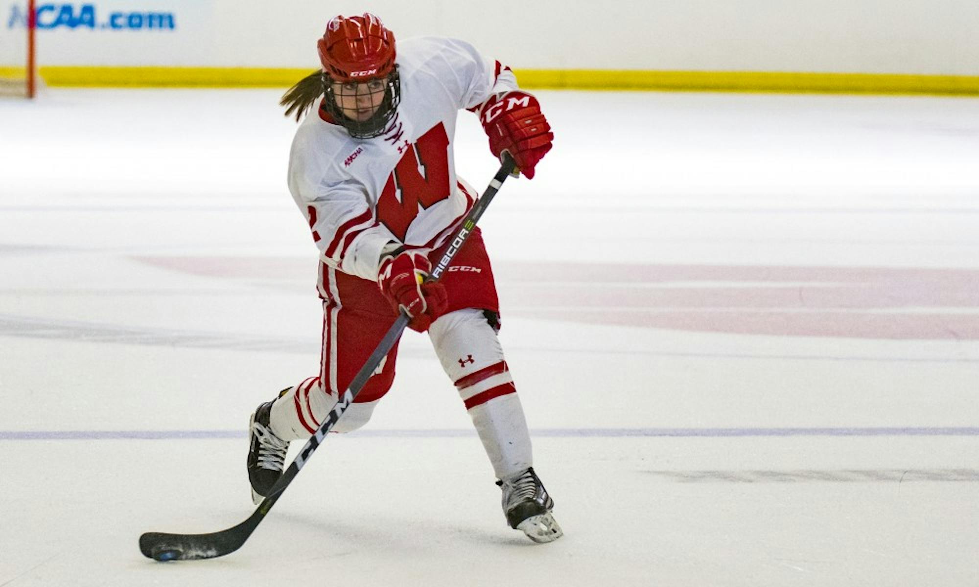
<svg viewBox="0 0 979 587">
<path fill-rule="evenodd" d="M 535 542 L 551 542 L 564 535 L 551 510 L 554 500 L 547 494 L 534 468 L 496 481 L 503 489 L 503 514 L 511 528 Z"/>
</svg>

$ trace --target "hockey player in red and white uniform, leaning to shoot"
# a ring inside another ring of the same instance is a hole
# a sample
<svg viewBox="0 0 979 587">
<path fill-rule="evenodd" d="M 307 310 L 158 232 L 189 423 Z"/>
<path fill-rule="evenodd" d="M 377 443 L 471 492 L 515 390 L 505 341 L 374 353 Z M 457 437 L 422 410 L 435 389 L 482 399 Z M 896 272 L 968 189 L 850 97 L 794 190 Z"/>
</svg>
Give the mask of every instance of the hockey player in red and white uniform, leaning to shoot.
<svg viewBox="0 0 979 587">
<path fill-rule="evenodd" d="M 562 535 L 537 477 L 517 389 L 496 339 L 499 310 L 477 228 L 435 283 L 422 283 L 435 249 L 477 194 L 455 174 L 456 115 L 469 110 L 489 150 L 509 153 L 534 177 L 553 134 L 512 71 L 468 43 L 395 42 L 371 15 L 338 16 L 317 43 L 322 69 L 285 94 L 303 119 L 293 140 L 289 189 L 320 252 L 323 347 L 319 374 L 283 389 L 251 419 L 249 479 L 256 503 L 282 474 L 291 440 L 307 438 L 336 404 L 399 309 L 428 332 L 472 418 L 502 488 L 511 527 L 536 542 Z M 397 345 L 334 431 L 367 423 L 394 381 Z"/>
</svg>

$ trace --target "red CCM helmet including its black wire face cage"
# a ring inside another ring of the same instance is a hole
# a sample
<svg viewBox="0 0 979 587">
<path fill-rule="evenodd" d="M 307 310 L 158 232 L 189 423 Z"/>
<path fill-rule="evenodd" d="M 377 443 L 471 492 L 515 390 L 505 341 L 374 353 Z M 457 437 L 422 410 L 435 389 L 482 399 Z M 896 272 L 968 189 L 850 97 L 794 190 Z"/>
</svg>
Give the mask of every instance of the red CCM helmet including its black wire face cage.
<svg viewBox="0 0 979 587">
<path fill-rule="evenodd" d="M 360 17 L 336 16 L 326 25 L 316 48 L 323 64 L 326 111 L 354 138 L 369 139 L 384 134 L 401 99 L 394 33 L 370 13 Z M 383 81 L 383 86 L 379 81 Z M 370 85 L 377 87 L 367 87 Z M 383 101 L 373 114 L 365 114 L 369 118 L 354 119 L 344 113 L 342 101 L 350 104 L 351 100 L 362 99 L 367 94 L 377 96 L 382 87 Z"/>
</svg>

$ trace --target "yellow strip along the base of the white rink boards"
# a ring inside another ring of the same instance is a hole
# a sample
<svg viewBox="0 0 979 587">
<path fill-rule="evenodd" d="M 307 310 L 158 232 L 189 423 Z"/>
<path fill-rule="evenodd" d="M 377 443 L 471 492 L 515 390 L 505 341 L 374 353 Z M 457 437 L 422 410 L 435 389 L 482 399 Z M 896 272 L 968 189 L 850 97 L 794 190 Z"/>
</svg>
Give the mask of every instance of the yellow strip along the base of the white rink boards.
<svg viewBox="0 0 979 587">
<path fill-rule="evenodd" d="M 23 71 L 23 69 L 21 69 Z M 287 88 L 304 68 L 42 67 L 49 86 Z M 4 68 L 0 68 L 2 74 Z M 979 96 L 979 75 L 516 69 L 522 87 L 570 90 L 931 94 Z"/>
</svg>

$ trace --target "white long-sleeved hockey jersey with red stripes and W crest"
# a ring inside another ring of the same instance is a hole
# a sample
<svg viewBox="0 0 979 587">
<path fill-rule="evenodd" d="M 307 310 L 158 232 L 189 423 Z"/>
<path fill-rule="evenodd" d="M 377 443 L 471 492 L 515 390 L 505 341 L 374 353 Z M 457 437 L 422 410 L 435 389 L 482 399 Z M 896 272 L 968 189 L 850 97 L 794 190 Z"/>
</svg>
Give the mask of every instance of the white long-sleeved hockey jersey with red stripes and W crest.
<svg viewBox="0 0 979 587">
<path fill-rule="evenodd" d="M 312 112 L 289 159 L 289 190 L 321 261 L 372 281 L 388 243 L 438 247 L 468 212 L 475 195 L 455 175 L 456 115 L 517 87 L 509 68 L 455 39 L 398 41 L 396 64 L 401 100 L 384 134 L 354 139 Z"/>
</svg>

